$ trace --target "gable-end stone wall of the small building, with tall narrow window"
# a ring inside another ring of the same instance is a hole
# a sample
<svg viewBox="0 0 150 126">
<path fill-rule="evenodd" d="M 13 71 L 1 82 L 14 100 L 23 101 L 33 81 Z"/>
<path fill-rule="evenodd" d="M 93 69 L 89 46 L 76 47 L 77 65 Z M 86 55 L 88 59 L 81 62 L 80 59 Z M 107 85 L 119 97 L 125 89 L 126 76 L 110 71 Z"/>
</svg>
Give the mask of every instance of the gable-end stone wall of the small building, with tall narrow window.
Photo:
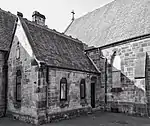
<svg viewBox="0 0 150 126">
<path fill-rule="evenodd" d="M 25 41 L 23 41 L 25 42 Z M 7 115 L 30 123 L 37 123 L 38 65 L 34 64 L 27 48 L 17 34 L 14 37 L 8 59 Z M 20 58 L 17 59 L 17 48 Z M 21 102 L 16 100 L 16 72 L 21 71 Z"/>
</svg>

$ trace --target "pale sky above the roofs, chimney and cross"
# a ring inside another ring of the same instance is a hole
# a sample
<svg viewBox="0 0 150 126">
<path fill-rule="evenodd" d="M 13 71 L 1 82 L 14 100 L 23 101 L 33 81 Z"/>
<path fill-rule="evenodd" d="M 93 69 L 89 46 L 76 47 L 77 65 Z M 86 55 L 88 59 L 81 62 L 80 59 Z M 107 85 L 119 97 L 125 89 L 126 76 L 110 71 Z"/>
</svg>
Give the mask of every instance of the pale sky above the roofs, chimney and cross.
<svg viewBox="0 0 150 126">
<path fill-rule="evenodd" d="M 39 11 L 46 16 L 46 25 L 50 29 L 63 32 L 71 22 L 74 10 L 75 18 L 79 18 L 112 0 L 0 0 L 0 8 L 32 20 L 32 13 Z"/>
</svg>

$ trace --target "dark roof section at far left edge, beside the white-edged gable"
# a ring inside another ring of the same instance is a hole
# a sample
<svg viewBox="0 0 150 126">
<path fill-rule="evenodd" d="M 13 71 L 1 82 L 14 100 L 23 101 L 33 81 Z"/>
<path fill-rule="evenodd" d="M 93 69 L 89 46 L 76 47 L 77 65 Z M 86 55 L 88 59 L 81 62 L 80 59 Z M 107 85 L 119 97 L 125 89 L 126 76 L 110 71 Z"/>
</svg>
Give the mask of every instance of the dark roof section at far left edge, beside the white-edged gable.
<svg viewBox="0 0 150 126">
<path fill-rule="evenodd" d="M 15 15 L 0 9 L 0 50 L 9 50 L 16 19 Z"/>
</svg>

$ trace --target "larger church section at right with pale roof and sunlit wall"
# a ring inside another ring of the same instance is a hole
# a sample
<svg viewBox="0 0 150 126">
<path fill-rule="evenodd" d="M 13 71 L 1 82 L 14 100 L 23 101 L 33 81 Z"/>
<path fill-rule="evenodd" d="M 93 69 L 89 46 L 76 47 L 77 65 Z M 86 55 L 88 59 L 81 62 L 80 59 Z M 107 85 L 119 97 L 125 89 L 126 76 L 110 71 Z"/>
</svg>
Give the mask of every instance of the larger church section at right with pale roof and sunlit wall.
<svg viewBox="0 0 150 126">
<path fill-rule="evenodd" d="M 150 116 L 150 1 L 115 0 L 71 22 L 101 72 L 100 106 Z"/>
</svg>

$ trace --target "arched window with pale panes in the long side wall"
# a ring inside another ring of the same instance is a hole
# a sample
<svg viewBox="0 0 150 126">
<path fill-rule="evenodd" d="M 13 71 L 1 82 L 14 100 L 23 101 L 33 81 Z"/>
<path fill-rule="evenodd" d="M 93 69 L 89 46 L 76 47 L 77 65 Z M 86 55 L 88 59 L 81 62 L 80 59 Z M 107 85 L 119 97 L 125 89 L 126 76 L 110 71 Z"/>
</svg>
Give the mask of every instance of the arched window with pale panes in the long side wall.
<svg viewBox="0 0 150 126">
<path fill-rule="evenodd" d="M 67 100 L 67 79 L 60 80 L 60 100 Z"/>
</svg>

